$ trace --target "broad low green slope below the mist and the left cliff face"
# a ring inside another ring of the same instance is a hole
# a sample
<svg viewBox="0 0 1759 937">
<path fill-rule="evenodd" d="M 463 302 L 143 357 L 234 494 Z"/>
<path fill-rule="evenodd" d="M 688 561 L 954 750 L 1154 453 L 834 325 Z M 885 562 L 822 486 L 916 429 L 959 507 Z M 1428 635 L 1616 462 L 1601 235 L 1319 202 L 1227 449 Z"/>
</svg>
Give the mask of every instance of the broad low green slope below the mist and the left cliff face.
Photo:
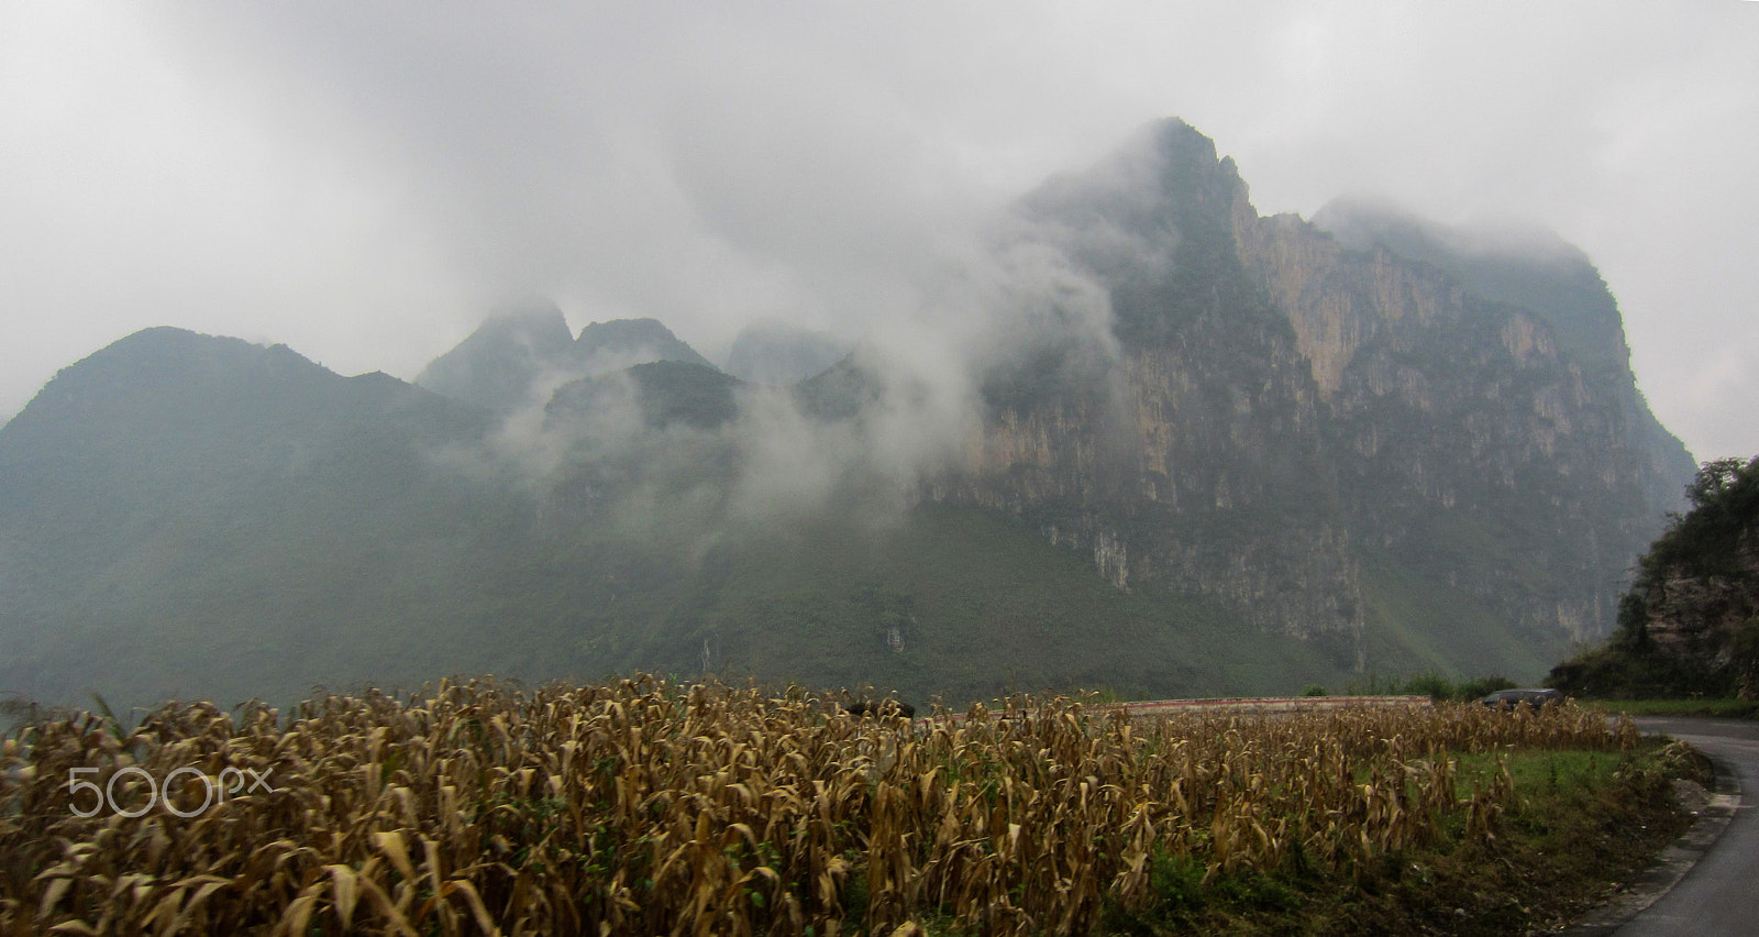
<svg viewBox="0 0 1759 937">
<path fill-rule="evenodd" d="M 1266 694 L 1337 675 L 1300 641 L 1242 641 L 1207 602 L 1120 592 L 1078 553 L 976 507 L 931 502 L 897 527 L 818 523 L 748 541 L 711 555 L 697 581 L 665 627 L 675 646 L 707 641 L 728 676 L 966 701 L 1015 689 Z"/>
</svg>

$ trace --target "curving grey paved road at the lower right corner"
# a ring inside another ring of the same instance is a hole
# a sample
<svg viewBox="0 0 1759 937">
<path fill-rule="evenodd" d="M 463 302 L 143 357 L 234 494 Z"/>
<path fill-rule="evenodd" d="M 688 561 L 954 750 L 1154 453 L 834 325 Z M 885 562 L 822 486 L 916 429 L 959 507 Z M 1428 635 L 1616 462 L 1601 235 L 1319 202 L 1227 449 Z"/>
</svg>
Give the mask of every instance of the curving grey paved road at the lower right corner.
<svg viewBox="0 0 1759 937">
<path fill-rule="evenodd" d="M 1646 733 L 1690 741 L 1727 764 L 1740 780 L 1740 805 L 1715 845 L 1659 902 L 1620 926 L 1617 937 L 1759 933 L 1759 722 L 1727 719 L 1638 719 Z"/>
</svg>

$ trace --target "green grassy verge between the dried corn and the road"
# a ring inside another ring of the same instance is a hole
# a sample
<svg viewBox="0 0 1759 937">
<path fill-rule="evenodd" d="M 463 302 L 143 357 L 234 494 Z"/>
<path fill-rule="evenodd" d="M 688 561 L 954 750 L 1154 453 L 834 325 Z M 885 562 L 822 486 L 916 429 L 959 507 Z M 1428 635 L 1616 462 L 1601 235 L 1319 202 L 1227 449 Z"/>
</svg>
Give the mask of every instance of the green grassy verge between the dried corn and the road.
<svg viewBox="0 0 1759 937">
<path fill-rule="evenodd" d="M 1157 898 L 1113 909 L 1106 933 L 1504 935 L 1551 932 L 1606 902 L 1690 824 L 1673 777 L 1710 782 L 1706 766 L 1664 740 L 1636 752 L 1516 750 L 1460 761 L 1460 796 L 1504 770 L 1514 803 L 1488 844 L 1463 840 L 1463 812 L 1439 844 L 1383 856 L 1354 875 L 1326 875 L 1296 854 L 1268 872 L 1208 874 L 1157 856 Z"/>
</svg>

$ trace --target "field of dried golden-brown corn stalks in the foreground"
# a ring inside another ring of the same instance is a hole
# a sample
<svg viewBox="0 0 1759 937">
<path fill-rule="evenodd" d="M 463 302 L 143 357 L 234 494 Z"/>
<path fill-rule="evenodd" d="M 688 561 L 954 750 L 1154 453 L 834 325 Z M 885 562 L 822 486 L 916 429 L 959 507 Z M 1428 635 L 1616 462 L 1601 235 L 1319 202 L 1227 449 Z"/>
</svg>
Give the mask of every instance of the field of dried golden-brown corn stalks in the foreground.
<svg viewBox="0 0 1759 937">
<path fill-rule="evenodd" d="M 0 756 L 0 933 L 1084 933 L 1150 856 L 1349 875 L 1495 835 L 1507 775 L 1449 756 L 1636 741 L 1574 708 L 966 715 L 639 678 L 46 722 Z"/>
</svg>

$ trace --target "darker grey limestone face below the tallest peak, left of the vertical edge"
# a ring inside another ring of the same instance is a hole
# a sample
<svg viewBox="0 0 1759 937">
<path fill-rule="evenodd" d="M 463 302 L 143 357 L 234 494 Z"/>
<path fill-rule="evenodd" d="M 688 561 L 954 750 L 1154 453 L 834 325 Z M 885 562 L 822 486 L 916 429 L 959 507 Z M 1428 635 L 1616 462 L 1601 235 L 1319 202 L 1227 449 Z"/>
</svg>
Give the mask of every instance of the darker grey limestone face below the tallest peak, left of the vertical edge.
<svg viewBox="0 0 1759 937">
<path fill-rule="evenodd" d="M 1217 386 L 1224 338 L 1193 329 L 1126 352 L 1115 398 L 999 405 L 969 472 L 936 495 L 1033 518 L 1119 588 L 1201 592 L 1354 660 L 1356 562 L 1346 530 L 1314 509 L 1332 497 L 1310 382 L 1281 336 L 1272 358 Z"/>
</svg>

